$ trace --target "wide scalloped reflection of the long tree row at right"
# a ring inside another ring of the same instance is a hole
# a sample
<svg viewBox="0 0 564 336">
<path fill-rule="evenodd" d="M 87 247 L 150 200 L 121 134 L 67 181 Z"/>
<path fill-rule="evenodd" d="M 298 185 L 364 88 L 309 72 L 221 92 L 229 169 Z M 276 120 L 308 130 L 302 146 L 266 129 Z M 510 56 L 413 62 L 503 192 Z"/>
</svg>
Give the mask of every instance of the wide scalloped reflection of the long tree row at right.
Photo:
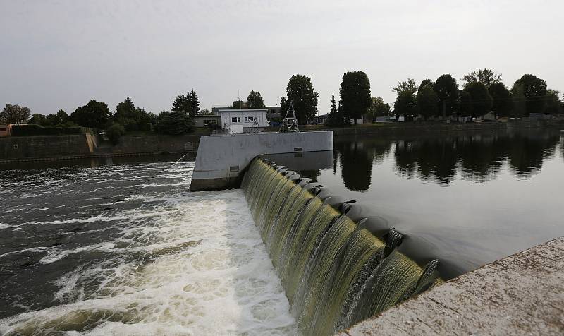
<svg viewBox="0 0 564 336">
<path fill-rule="evenodd" d="M 448 184 L 460 171 L 464 179 L 495 179 L 507 160 L 513 174 L 526 177 L 541 169 L 559 137 L 546 133 L 491 133 L 396 141 L 396 169 L 404 176 Z"/>
</svg>

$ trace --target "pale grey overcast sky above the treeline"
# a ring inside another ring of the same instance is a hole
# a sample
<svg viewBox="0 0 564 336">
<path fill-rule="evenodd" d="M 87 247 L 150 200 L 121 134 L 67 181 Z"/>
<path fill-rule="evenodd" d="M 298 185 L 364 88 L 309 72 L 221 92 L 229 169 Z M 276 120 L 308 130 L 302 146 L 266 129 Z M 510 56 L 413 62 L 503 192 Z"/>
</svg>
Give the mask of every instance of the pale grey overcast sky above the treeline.
<svg viewBox="0 0 564 336">
<path fill-rule="evenodd" d="M 393 103 L 398 80 L 462 77 L 506 85 L 533 73 L 564 90 L 564 1 L 0 0 L 0 104 L 69 114 L 112 111 L 129 95 L 152 112 L 194 88 L 202 109 L 259 91 L 279 104 L 295 73 L 319 114 L 345 71 L 367 73 Z"/>
</svg>

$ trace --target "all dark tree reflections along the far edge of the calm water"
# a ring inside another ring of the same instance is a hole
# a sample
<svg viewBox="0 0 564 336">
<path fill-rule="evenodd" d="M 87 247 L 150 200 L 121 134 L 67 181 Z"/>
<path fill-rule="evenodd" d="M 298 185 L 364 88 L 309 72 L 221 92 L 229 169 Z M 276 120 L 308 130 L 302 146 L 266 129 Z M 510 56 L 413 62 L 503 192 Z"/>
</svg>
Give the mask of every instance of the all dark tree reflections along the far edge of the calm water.
<svg viewBox="0 0 564 336">
<path fill-rule="evenodd" d="M 395 169 L 402 176 L 446 185 L 460 173 L 463 179 L 483 182 L 495 179 L 507 162 L 512 174 L 527 177 L 554 154 L 559 139 L 558 133 L 534 130 L 411 140 L 336 140 L 333 169 L 338 160 L 345 187 L 366 191 L 372 183 L 372 166 L 384 160 L 393 145 Z"/>
</svg>

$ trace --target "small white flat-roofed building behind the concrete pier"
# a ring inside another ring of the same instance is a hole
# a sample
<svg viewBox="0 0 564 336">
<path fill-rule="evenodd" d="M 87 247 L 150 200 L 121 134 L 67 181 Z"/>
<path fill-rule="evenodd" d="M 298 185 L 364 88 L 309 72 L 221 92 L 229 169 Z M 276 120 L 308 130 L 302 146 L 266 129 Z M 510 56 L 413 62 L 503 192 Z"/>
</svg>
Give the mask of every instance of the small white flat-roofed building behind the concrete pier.
<svg viewBox="0 0 564 336">
<path fill-rule="evenodd" d="M 221 126 L 228 126 L 235 133 L 243 133 L 252 130 L 255 122 L 259 124 L 259 130 L 269 126 L 266 120 L 268 109 L 219 109 L 217 112 L 221 117 Z"/>
</svg>

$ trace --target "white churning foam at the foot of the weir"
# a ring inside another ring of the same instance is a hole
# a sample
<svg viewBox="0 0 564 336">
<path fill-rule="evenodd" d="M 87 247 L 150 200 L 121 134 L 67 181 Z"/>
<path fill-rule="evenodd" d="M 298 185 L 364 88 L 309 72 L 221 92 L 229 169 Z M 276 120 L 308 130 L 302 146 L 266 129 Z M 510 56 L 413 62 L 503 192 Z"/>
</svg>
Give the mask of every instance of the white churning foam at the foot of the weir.
<svg viewBox="0 0 564 336">
<path fill-rule="evenodd" d="M 49 253 L 42 263 L 84 251 L 109 258 L 60 277 L 59 306 L 0 320 L 0 334 L 298 332 L 242 191 L 135 198 L 161 203 L 111 217 L 123 224 L 112 242 Z"/>
</svg>

